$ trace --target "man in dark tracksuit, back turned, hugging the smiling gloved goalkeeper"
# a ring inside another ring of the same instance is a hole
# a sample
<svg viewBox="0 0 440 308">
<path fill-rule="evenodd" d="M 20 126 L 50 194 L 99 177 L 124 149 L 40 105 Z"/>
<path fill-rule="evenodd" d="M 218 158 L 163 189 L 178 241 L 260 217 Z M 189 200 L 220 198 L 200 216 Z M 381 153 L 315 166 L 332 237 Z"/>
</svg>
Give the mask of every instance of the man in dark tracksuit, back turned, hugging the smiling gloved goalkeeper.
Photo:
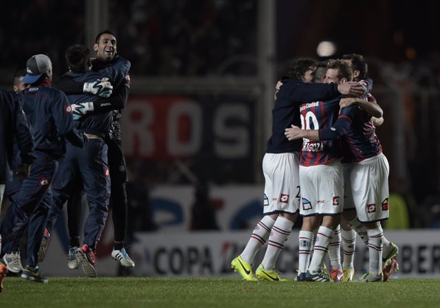
<svg viewBox="0 0 440 308">
<path fill-rule="evenodd" d="M 67 78 L 72 78 L 77 83 L 93 83 L 94 80 L 103 81 L 104 78 L 111 83 L 118 84 L 122 81 L 119 76 L 124 76 L 128 72 L 130 63 L 120 58 L 120 63 L 115 67 L 120 69 L 108 69 L 106 75 L 103 72 L 89 71 L 89 49 L 84 45 L 73 45 L 66 51 L 65 58 L 70 71 Z M 93 104 L 89 100 L 97 100 L 98 96 L 90 94 L 69 94 L 67 96 L 75 109 L 79 104 Z M 110 178 L 109 166 L 107 163 L 107 144 L 104 137 L 109 133 L 111 127 L 111 112 L 107 113 L 88 113 L 81 120 L 76 121 L 76 128 L 81 133 L 85 133 L 89 142 L 84 149 L 78 149 L 67 144 L 67 156 L 60 163 L 60 176 L 54 182 L 54 206 L 62 208 L 63 204 L 72 195 L 72 187 L 76 179 L 82 179 L 83 189 L 87 195 L 89 204 L 89 217 L 85 225 L 84 244 L 78 248 L 78 243 L 72 243 L 69 248 L 67 265 L 74 269 L 78 267 L 72 256 L 72 250 L 78 256 L 78 261 L 83 265 L 83 270 L 89 277 L 96 276 L 96 245 L 100 240 L 100 235 L 107 220 L 109 198 L 110 198 Z M 48 224 L 48 229 L 52 225 Z M 78 238 L 77 238 L 78 240 Z"/>
</svg>

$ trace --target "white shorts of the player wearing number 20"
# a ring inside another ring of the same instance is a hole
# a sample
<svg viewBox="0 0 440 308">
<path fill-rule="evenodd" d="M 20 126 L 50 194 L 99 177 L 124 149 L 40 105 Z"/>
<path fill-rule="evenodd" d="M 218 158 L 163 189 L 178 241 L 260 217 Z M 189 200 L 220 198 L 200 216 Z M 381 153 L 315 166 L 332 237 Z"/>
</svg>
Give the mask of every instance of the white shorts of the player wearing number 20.
<svg viewBox="0 0 440 308">
<path fill-rule="evenodd" d="M 344 182 L 340 161 L 300 166 L 302 216 L 334 215 L 344 208 Z"/>
</svg>

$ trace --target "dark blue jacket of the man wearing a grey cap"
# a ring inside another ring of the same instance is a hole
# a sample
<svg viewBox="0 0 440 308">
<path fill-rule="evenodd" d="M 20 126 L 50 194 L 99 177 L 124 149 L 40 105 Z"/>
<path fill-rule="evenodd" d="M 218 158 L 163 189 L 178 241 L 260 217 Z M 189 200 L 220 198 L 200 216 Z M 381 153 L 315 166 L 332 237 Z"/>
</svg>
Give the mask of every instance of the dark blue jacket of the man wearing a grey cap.
<svg viewBox="0 0 440 308">
<path fill-rule="evenodd" d="M 19 98 L 32 127 L 36 151 L 62 157 L 65 139 L 83 147 L 84 138 L 75 129 L 72 108 L 62 91 L 48 85 L 32 85 Z"/>
</svg>

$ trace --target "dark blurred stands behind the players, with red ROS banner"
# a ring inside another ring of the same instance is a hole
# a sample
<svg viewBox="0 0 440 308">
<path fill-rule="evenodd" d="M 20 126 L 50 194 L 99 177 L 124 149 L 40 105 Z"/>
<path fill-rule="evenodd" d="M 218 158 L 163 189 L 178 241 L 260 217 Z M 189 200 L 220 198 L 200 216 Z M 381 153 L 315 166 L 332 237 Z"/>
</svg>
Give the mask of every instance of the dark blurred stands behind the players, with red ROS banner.
<svg viewBox="0 0 440 308">
<path fill-rule="evenodd" d="M 56 86 L 67 47 L 92 47 L 109 28 L 131 61 L 123 143 L 136 178 L 261 185 L 274 85 L 289 63 L 363 54 L 384 109 L 377 135 L 391 190 L 408 227 L 432 227 L 440 221 L 439 12 L 439 1 L 423 0 L 6 1 L 0 85 L 12 87 L 14 72 L 44 53 Z"/>
</svg>

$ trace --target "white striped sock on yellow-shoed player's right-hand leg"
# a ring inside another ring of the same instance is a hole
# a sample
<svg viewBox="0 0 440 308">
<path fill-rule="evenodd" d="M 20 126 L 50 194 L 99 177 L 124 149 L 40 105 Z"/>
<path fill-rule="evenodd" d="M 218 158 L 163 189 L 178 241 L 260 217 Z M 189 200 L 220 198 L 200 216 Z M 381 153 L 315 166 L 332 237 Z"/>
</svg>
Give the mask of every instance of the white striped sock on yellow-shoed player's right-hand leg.
<svg viewBox="0 0 440 308">
<path fill-rule="evenodd" d="M 264 259 L 261 261 L 261 264 L 263 264 L 266 270 L 274 270 L 276 259 L 278 259 L 278 255 L 281 250 L 283 250 L 284 243 L 289 238 L 293 226 L 294 223 L 289 221 L 289 219 L 279 216 L 276 219 L 274 226 L 272 227 L 272 232 L 270 232 Z"/>
</svg>

